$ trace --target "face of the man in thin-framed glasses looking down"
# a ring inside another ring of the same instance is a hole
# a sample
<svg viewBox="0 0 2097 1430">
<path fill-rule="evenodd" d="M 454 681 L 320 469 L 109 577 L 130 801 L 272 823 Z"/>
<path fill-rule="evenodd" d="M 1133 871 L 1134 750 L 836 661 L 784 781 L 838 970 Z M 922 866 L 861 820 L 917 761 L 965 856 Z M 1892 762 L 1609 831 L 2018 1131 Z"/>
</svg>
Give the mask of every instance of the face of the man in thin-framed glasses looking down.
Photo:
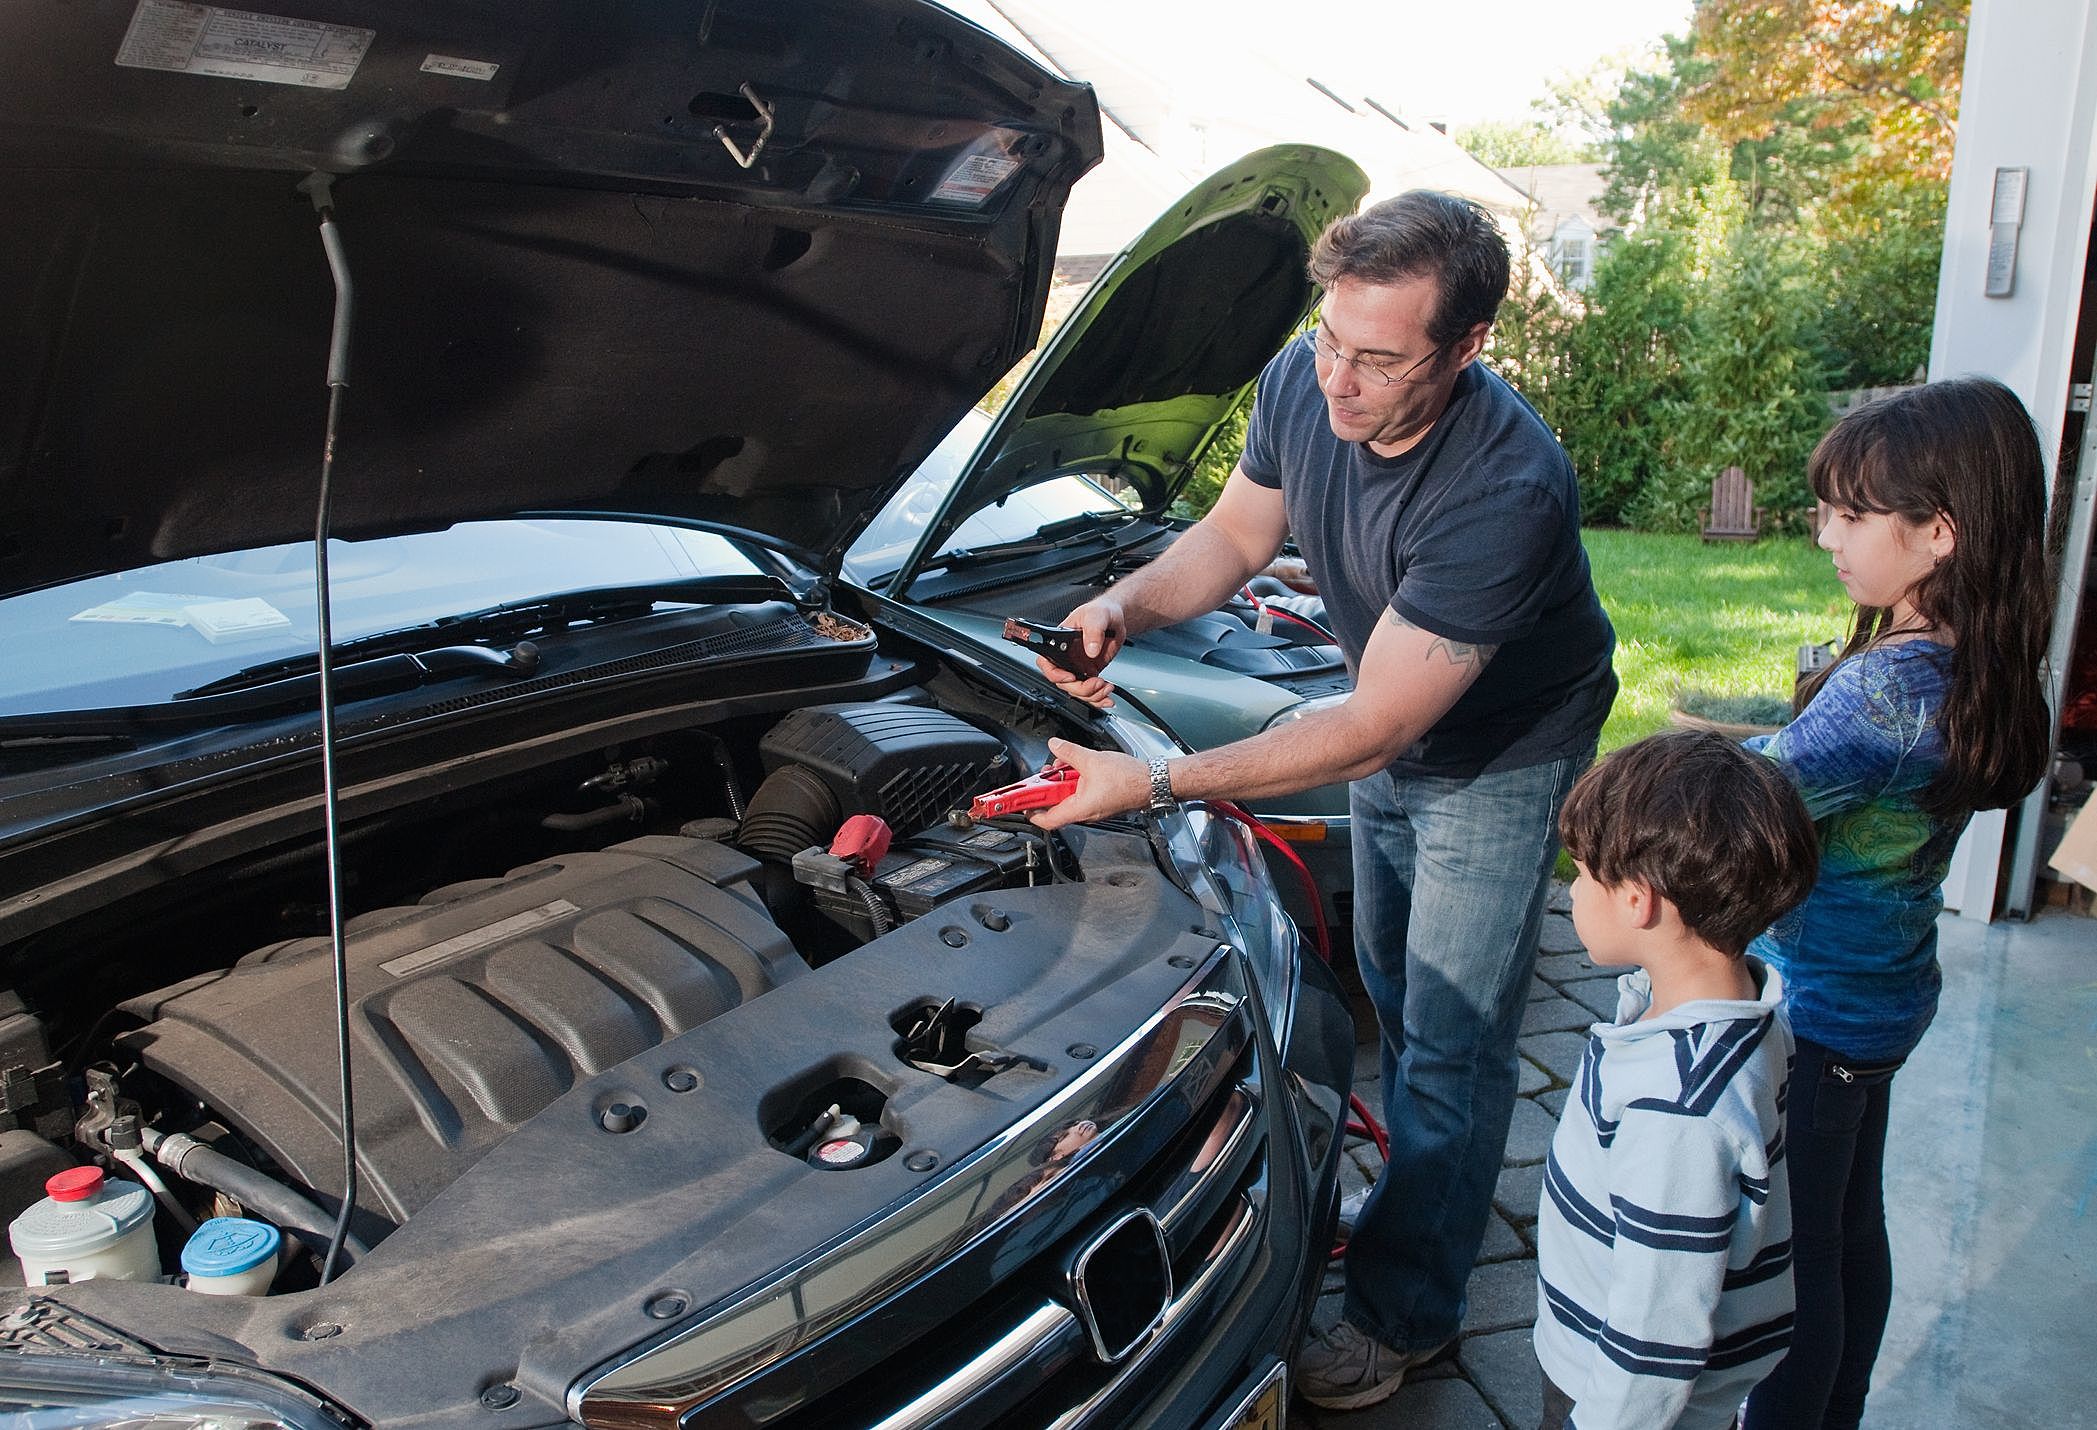
<svg viewBox="0 0 2097 1430">
<path fill-rule="evenodd" d="M 1426 436 L 1449 407 L 1457 373 L 1478 356 L 1487 325 L 1457 338 L 1445 352 L 1434 350 L 1428 323 L 1434 319 L 1434 279 L 1361 283 L 1340 279 L 1325 291 L 1317 325 L 1317 382 L 1325 394 L 1325 419 L 1342 442 L 1397 457 Z M 1338 350 L 1338 359 L 1332 352 Z M 1355 359 L 1355 361 L 1344 361 Z M 1399 377 L 1384 384 L 1367 365 Z"/>
</svg>

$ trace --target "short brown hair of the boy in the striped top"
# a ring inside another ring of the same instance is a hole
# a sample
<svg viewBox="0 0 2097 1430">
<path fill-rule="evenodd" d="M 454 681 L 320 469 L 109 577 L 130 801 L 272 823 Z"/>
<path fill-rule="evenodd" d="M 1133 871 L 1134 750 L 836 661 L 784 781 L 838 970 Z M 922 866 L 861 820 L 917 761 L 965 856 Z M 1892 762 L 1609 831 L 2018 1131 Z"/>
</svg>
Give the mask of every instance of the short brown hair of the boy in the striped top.
<svg viewBox="0 0 2097 1430">
<path fill-rule="evenodd" d="M 1558 832 L 1592 879 L 1648 885 L 1734 958 L 1820 872 L 1814 822 L 1776 761 L 1705 730 L 1669 730 L 1602 759 L 1566 795 Z"/>
</svg>

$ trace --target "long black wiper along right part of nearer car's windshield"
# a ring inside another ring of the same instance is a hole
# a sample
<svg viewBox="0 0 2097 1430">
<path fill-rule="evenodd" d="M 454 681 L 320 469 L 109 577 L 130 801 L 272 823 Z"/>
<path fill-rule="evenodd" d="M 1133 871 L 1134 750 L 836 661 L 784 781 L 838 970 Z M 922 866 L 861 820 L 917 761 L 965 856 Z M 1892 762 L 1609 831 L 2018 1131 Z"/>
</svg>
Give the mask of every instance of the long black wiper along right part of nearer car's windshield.
<svg viewBox="0 0 2097 1430">
<path fill-rule="evenodd" d="M 648 585 L 568 591 L 564 595 L 535 595 L 524 602 L 505 602 L 455 616 L 438 616 L 436 621 L 409 625 L 398 631 L 380 631 L 350 642 L 336 642 L 336 684 L 344 694 L 371 694 L 377 686 L 409 688 L 470 673 L 531 675 L 539 667 L 539 648 L 524 640 L 528 635 L 543 635 L 575 625 L 627 621 L 644 616 L 665 602 L 677 606 L 740 606 L 778 600 L 793 600 L 793 591 L 774 577 L 696 577 L 692 581 L 656 581 Z M 476 642 L 516 644 L 510 650 L 495 650 L 489 644 Z M 174 698 L 203 700 L 241 690 L 260 690 L 264 686 L 285 686 L 283 694 L 291 696 L 298 694 L 294 686 L 304 688 L 317 679 L 319 667 L 319 652 L 306 650 L 296 656 L 243 667 L 195 690 L 178 690 Z"/>
</svg>

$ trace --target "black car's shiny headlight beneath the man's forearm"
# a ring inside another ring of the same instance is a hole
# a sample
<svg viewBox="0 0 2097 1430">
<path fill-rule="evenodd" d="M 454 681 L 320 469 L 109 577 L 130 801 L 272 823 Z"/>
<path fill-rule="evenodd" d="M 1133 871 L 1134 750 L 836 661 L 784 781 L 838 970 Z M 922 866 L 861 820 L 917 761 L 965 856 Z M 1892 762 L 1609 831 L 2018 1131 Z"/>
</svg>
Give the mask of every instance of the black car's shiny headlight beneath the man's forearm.
<svg viewBox="0 0 2097 1430">
<path fill-rule="evenodd" d="M 1155 725 L 1109 715 L 1107 728 L 1137 759 L 1187 753 Z M 1288 1053 L 1302 939 L 1296 920 L 1275 895 L 1258 835 L 1237 820 L 1210 814 L 1204 805 L 1189 805 L 1179 816 L 1166 818 L 1164 828 L 1181 881 L 1216 916 L 1223 937 L 1244 950 L 1260 1002 L 1267 1006 L 1275 1046 Z"/>
</svg>

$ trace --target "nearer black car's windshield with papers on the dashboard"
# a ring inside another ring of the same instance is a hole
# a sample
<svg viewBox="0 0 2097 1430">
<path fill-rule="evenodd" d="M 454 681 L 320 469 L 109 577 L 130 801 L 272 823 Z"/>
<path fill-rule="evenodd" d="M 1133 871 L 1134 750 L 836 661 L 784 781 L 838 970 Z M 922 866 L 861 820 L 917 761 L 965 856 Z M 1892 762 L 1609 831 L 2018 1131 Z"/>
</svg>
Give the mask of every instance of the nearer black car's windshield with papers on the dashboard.
<svg viewBox="0 0 2097 1430">
<path fill-rule="evenodd" d="M 327 566 L 338 646 L 505 602 L 757 572 L 715 533 L 570 518 L 329 541 Z M 140 566 L 0 600 L 0 715 L 157 705 L 317 646 L 310 541 Z"/>
</svg>

